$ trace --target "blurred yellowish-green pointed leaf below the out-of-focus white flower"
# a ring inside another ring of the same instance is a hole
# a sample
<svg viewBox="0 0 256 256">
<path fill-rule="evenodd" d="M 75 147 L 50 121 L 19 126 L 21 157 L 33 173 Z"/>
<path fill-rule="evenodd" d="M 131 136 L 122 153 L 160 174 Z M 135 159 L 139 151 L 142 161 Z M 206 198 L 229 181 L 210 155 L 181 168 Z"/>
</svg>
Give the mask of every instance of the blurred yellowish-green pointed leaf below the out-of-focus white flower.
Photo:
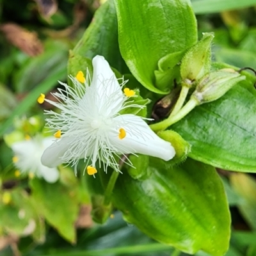
<svg viewBox="0 0 256 256">
<path fill-rule="evenodd" d="M 49 184 L 44 180 L 30 180 L 33 202 L 40 214 L 56 228 L 60 235 L 76 242 L 76 221 L 79 206 L 78 196 L 74 187 L 64 186 L 60 182 Z"/>
</svg>

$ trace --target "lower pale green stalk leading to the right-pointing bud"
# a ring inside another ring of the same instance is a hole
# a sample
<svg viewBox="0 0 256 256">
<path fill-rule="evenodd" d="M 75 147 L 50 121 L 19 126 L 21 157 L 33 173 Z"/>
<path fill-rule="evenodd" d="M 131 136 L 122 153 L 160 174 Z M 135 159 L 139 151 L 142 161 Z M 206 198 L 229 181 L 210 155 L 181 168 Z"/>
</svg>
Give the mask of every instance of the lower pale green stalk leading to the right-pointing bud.
<svg viewBox="0 0 256 256">
<path fill-rule="evenodd" d="M 190 98 L 190 100 L 187 102 L 187 104 L 180 109 L 180 111 L 173 116 L 169 116 L 166 120 L 163 120 L 162 122 L 159 122 L 157 124 L 152 124 L 150 125 L 150 128 L 153 131 L 161 131 L 165 130 L 167 127 L 169 127 L 172 124 L 175 124 L 178 122 L 180 119 L 182 119 L 184 116 L 188 115 L 188 113 L 198 106 L 199 102 L 195 98 Z"/>
</svg>

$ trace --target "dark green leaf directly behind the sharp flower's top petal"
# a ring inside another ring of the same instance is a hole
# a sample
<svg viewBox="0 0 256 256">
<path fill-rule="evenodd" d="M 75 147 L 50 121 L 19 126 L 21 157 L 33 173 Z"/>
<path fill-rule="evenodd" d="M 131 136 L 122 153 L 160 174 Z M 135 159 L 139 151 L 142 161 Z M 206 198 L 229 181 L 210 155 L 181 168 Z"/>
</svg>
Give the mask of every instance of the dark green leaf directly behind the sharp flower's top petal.
<svg viewBox="0 0 256 256">
<path fill-rule="evenodd" d="M 74 54 L 91 59 L 97 54 L 104 56 L 111 67 L 121 73 L 129 72 L 119 51 L 116 10 L 113 0 L 102 4 L 95 12 L 93 21 L 74 48 Z"/>
</svg>

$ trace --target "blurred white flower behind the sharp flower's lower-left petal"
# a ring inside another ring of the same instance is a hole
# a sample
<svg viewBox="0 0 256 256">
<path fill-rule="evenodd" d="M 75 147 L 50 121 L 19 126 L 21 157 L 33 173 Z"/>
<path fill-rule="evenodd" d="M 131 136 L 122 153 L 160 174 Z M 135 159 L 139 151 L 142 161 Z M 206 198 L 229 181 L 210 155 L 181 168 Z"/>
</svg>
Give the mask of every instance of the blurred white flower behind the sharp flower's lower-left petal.
<svg viewBox="0 0 256 256">
<path fill-rule="evenodd" d="M 53 137 L 28 138 L 11 145 L 14 152 L 13 163 L 21 173 L 29 173 L 30 176 L 43 177 L 47 182 L 56 182 L 59 172 L 56 168 L 48 168 L 41 163 L 41 156 L 45 148 L 49 147 Z"/>
</svg>

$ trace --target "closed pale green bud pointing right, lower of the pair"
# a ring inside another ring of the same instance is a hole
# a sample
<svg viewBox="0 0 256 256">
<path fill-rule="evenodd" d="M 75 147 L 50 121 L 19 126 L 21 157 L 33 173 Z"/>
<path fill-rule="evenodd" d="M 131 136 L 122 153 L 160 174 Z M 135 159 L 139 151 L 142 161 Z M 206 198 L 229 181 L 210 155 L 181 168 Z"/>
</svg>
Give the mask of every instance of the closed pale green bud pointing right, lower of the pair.
<svg viewBox="0 0 256 256">
<path fill-rule="evenodd" d="M 200 104 L 217 100 L 244 79 L 245 76 L 241 76 L 232 68 L 210 72 L 200 79 L 191 98 L 196 99 Z"/>
</svg>

